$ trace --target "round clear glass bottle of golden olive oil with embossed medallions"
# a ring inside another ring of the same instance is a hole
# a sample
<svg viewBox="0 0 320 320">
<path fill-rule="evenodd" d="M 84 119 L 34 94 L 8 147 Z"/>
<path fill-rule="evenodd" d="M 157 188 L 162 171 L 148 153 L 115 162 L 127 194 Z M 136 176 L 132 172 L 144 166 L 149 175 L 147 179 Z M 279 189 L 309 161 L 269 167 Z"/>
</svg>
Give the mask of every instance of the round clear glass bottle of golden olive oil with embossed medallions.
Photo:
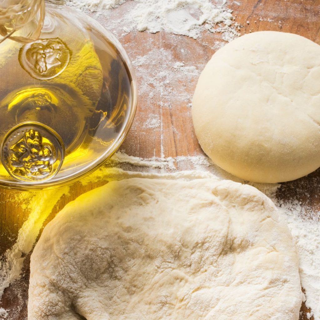
<svg viewBox="0 0 320 320">
<path fill-rule="evenodd" d="M 137 104 L 121 44 L 60 0 L 3 0 L 0 35 L 0 185 L 60 185 L 103 164 Z"/>
</svg>

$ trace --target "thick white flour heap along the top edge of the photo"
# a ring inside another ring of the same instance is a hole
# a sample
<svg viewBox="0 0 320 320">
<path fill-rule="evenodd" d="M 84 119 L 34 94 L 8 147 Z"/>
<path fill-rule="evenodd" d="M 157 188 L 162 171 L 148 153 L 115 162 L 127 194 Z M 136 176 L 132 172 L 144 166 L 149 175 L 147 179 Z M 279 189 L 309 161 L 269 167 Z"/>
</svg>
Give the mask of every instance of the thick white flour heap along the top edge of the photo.
<svg viewBox="0 0 320 320">
<path fill-rule="evenodd" d="M 127 2 L 126 0 L 68 0 L 68 5 L 81 10 L 98 12 L 109 17 L 110 9 Z M 176 35 L 197 39 L 205 29 L 211 32 L 223 32 L 226 40 L 237 36 L 232 10 L 226 6 L 226 0 L 134 0 L 127 14 L 118 16 L 113 12 L 108 27 L 119 29 L 122 36 L 133 30 L 156 33 L 165 31 Z M 220 29 L 215 26 L 219 24 Z M 201 28 L 202 26 L 202 28 Z M 118 35 L 119 36 L 119 35 Z"/>
</svg>

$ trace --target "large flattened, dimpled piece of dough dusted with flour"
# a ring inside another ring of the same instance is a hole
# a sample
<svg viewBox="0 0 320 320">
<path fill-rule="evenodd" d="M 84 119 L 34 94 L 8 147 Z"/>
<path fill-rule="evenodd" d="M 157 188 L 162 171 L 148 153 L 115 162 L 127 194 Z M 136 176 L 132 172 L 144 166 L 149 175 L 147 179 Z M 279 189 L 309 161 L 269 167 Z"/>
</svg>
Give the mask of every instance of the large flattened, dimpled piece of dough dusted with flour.
<svg viewBox="0 0 320 320">
<path fill-rule="evenodd" d="M 109 182 L 31 256 L 29 320 L 298 320 L 301 301 L 274 204 L 228 180 Z"/>
</svg>

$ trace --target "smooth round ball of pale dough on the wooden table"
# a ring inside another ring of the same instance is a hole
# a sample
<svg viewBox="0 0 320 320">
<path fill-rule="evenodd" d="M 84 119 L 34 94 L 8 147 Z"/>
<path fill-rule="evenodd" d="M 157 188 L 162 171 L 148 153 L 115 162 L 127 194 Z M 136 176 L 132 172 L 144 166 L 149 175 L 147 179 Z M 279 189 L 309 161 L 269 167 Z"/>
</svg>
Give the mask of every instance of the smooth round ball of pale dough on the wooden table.
<svg viewBox="0 0 320 320">
<path fill-rule="evenodd" d="M 283 182 L 320 166 L 320 46 L 262 31 L 217 51 L 193 97 L 204 152 L 244 180 Z"/>
</svg>

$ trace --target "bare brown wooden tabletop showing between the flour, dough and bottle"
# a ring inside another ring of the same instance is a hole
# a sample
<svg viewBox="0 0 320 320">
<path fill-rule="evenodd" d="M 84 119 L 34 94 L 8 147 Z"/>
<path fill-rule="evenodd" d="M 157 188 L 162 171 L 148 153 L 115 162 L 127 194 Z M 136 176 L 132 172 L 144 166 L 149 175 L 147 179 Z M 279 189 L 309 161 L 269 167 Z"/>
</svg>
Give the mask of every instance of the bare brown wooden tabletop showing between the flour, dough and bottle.
<svg viewBox="0 0 320 320">
<path fill-rule="evenodd" d="M 258 30 L 275 30 L 296 33 L 320 43 L 320 0 L 238 0 L 228 3 L 228 7 L 233 10 L 236 22 L 242 26 L 239 30 L 240 34 Z M 121 10 L 130 10 L 130 5 L 133 3 L 128 2 L 116 10 L 118 13 L 121 13 Z M 100 22 L 108 28 L 108 21 L 100 18 Z M 165 32 L 156 34 L 132 32 L 122 37 L 120 41 L 132 60 L 148 54 L 152 49 L 164 49 L 171 52 L 176 61 L 184 61 L 185 66 L 195 66 L 201 71 L 215 51 L 214 46 L 210 44 L 221 41 L 221 34 L 204 32 L 199 41 Z M 146 85 L 144 83 L 146 72 L 150 72 L 151 69 L 156 75 L 167 63 L 166 57 L 160 54 L 156 60 L 149 60 L 138 66 L 136 70 L 140 88 Z M 188 78 L 188 83 L 181 79 L 177 80 L 170 97 L 164 97 L 161 87 L 154 87 L 152 84 L 150 84 L 150 90 L 154 93 L 152 99 L 148 92 L 140 90 L 137 114 L 121 150 L 128 155 L 143 158 L 203 154 L 193 131 L 189 106 L 191 101 L 181 101 L 175 94 L 183 89 L 191 97 L 196 82 L 197 76 Z M 160 120 L 159 125 L 145 126 L 150 114 L 157 116 Z M 179 169 L 183 168 L 179 167 Z M 104 183 L 105 181 L 87 185 L 74 183 L 68 195 L 60 198 L 44 225 L 69 201 Z M 281 199 L 297 199 L 302 202 L 302 205 L 319 210 L 319 183 L 320 170 L 317 170 L 307 177 L 282 184 L 277 196 Z M 17 191 L 0 190 L 0 254 L 15 243 L 18 231 L 29 214 L 28 210 L 15 200 L 17 196 L 19 196 Z M 29 255 L 24 263 L 24 275 L 21 280 L 15 286 L 6 289 L 0 302 L 0 308 L 11 310 L 6 320 L 27 319 L 28 264 Z M 20 295 L 19 299 L 18 295 Z M 304 306 L 302 310 L 308 311 Z M 307 319 L 305 313 L 302 314 L 301 319 Z"/>
</svg>

